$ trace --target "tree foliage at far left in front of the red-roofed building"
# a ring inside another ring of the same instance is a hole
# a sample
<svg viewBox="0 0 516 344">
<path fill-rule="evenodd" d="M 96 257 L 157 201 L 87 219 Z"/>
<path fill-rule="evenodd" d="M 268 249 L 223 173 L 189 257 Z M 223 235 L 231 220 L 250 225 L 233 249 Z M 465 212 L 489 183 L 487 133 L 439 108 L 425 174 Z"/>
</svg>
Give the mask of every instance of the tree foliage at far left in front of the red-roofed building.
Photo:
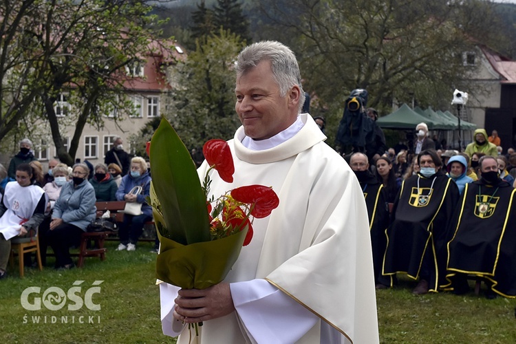
<svg viewBox="0 0 516 344">
<path fill-rule="evenodd" d="M 23 116 L 41 118 L 58 157 L 72 164 L 86 123 L 102 127 L 106 115 L 133 111 L 125 68 L 166 50 L 153 41 L 150 9 L 145 1 L 3 1 L 0 15 L 10 20 L 2 25 L 0 76 L 8 87 L 0 94 L 0 138 Z M 55 111 L 63 93 L 75 127 L 69 151 L 61 140 L 66 120 Z"/>
</svg>

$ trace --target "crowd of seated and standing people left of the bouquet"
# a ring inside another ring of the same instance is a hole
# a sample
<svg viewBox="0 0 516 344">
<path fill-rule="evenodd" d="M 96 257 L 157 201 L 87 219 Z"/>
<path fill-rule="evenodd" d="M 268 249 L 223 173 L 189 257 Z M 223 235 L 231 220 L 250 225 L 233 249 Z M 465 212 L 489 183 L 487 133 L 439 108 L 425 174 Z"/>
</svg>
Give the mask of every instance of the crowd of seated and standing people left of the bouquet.
<svg viewBox="0 0 516 344">
<path fill-rule="evenodd" d="M 44 173 L 43 166 L 34 158 L 32 142 L 24 138 L 8 169 L 0 164 L 0 279 L 6 277 L 10 239 L 34 236 L 36 230 L 43 265 L 50 246 L 56 257 L 55 268 L 72 268 L 69 248 L 78 246 L 81 234 L 100 215 L 96 202 L 141 204 L 142 215 L 125 215 L 119 230 L 118 250 L 136 250 L 144 223 L 152 217 L 146 202 L 150 169 L 144 158 L 131 157 L 123 151 L 121 138 L 116 138 L 113 146 L 105 163 L 96 164 L 94 169 L 89 162 L 69 167 L 51 159 Z M 131 193 L 134 186 L 141 186 L 138 195 Z M 157 252 L 158 245 L 156 237 L 153 252 Z M 25 264 L 32 264 L 30 256 Z"/>
</svg>

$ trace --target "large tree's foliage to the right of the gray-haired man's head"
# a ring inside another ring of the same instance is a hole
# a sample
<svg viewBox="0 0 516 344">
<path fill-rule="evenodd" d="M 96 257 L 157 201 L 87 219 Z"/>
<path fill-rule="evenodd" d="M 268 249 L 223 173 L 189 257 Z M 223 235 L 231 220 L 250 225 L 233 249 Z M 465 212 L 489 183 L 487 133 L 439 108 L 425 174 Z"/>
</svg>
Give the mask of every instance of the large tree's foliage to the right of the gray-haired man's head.
<svg viewBox="0 0 516 344">
<path fill-rule="evenodd" d="M 453 88 L 463 86 L 462 53 L 478 43 L 471 35 L 483 30 L 485 41 L 496 32 L 491 6 L 480 0 L 260 3 L 271 23 L 268 38 L 297 52 L 305 89 L 319 100 L 319 109 L 311 108 L 334 116 L 327 127 L 336 125 L 356 88 L 367 89 L 368 106 L 380 109 L 413 99 L 447 105 Z"/>
</svg>

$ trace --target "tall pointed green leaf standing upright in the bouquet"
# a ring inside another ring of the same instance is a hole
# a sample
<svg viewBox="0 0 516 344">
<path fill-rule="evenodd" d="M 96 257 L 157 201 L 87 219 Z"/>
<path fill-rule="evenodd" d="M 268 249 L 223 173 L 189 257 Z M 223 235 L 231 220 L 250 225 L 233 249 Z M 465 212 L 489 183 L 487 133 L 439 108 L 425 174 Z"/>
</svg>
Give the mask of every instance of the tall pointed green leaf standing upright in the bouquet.
<svg viewBox="0 0 516 344">
<path fill-rule="evenodd" d="M 195 164 L 166 118 L 152 136 L 150 159 L 151 200 L 161 206 L 166 228 L 162 236 L 183 245 L 210 241 L 206 197 Z"/>
</svg>

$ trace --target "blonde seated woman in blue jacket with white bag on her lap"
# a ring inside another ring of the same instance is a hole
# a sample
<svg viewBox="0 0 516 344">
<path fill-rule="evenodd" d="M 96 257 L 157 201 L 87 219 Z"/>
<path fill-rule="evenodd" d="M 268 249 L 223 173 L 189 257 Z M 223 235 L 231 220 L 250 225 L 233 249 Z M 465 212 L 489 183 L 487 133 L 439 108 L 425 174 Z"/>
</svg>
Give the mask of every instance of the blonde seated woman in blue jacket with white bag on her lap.
<svg viewBox="0 0 516 344">
<path fill-rule="evenodd" d="M 133 187 L 142 186 L 142 193 L 134 195 L 130 193 Z M 117 250 L 136 250 L 136 243 L 143 232 L 143 225 L 152 219 L 152 208 L 145 202 L 145 197 L 151 191 L 151 176 L 147 172 L 147 162 L 139 156 L 131 159 L 131 171 L 122 178 L 122 183 L 116 191 L 116 199 L 125 202 L 138 202 L 142 204 L 142 215 L 124 215 L 124 222 L 118 230 L 120 244 Z"/>
</svg>

